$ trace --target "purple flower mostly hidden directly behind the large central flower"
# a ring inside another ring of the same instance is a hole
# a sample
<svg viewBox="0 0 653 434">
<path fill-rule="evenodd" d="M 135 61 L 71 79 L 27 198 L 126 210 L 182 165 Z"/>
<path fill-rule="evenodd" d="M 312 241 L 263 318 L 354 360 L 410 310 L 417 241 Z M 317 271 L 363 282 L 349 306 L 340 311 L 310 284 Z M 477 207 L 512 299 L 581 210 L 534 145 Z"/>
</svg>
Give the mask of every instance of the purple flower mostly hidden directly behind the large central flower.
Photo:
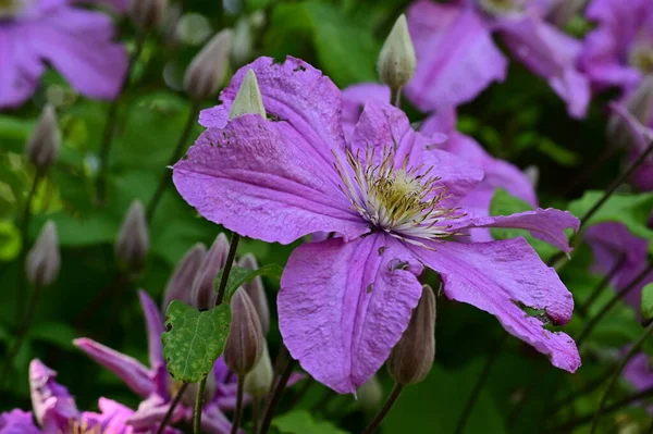
<svg viewBox="0 0 653 434">
<path fill-rule="evenodd" d="M 390 88 L 366 83 L 343 90 L 343 131 L 350 141 L 365 104 L 370 101 L 390 102 Z M 538 206 L 534 186 L 528 176 L 507 161 L 495 159 L 473 138 L 456 131 L 456 111 L 440 110 L 430 115 L 420 126 L 420 133 L 431 137 L 438 149 L 456 154 L 460 159 L 481 168 L 485 174 L 479 185 L 461 201 L 468 213 L 476 216 L 490 215 L 490 203 L 497 188 L 504 188 L 532 207 Z M 443 139 L 442 134 L 446 135 Z M 475 228 L 469 234 L 476 241 L 490 241 L 490 230 Z"/>
</svg>

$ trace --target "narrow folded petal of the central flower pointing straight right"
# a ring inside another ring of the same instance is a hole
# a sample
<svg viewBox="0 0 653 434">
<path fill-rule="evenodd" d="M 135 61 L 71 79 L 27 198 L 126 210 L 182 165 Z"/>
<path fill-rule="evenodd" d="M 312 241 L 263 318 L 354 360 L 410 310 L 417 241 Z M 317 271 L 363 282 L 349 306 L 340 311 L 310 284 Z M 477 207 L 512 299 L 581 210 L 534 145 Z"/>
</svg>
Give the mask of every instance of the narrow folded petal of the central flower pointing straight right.
<svg viewBox="0 0 653 434">
<path fill-rule="evenodd" d="M 572 249 L 565 234 L 566 228 L 578 231 L 580 220 L 569 211 L 560 211 L 554 208 L 538 208 L 533 211 L 519 212 L 512 215 L 492 215 L 471 218 L 453 222 L 453 227 L 472 228 L 472 227 L 507 227 L 526 230 L 535 238 L 542 239 L 563 250 L 565 253 Z"/>
</svg>

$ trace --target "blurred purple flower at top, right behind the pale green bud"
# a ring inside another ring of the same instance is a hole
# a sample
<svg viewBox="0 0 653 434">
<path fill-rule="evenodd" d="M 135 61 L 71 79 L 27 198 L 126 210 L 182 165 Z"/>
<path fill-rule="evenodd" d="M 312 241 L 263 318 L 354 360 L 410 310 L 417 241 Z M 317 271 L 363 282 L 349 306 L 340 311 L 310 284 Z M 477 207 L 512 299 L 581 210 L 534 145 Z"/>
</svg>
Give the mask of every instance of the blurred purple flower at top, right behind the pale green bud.
<svg viewBox="0 0 653 434">
<path fill-rule="evenodd" d="M 501 36 L 510 52 L 546 79 L 583 117 L 589 80 L 576 65 L 581 42 L 545 21 L 553 3 L 543 0 L 418 0 L 408 10 L 408 26 L 418 58 L 406 96 L 421 110 L 456 107 L 472 100 L 492 82 L 506 77 L 508 62 L 492 40 Z"/>
</svg>

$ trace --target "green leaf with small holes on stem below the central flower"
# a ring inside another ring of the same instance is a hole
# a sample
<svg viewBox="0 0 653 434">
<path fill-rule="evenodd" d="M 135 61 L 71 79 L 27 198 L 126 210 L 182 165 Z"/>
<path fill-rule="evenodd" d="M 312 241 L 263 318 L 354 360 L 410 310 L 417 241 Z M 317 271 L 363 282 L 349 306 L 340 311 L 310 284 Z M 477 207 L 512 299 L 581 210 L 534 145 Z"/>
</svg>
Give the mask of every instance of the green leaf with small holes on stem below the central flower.
<svg viewBox="0 0 653 434">
<path fill-rule="evenodd" d="M 211 372 L 224 351 L 231 325 L 231 309 L 222 303 L 198 311 L 173 300 L 165 311 L 163 358 L 175 380 L 197 383 Z"/>
</svg>

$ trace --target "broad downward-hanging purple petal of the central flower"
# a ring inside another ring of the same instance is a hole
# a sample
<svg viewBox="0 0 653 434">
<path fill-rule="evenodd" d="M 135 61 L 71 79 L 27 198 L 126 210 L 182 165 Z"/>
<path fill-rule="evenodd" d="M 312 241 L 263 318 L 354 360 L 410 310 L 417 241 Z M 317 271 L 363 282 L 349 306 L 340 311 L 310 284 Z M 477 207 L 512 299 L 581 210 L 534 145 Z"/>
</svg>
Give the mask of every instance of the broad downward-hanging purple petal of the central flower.
<svg viewBox="0 0 653 434">
<path fill-rule="evenodd" d="M 384 234 L 295 249 L 278 298 L 291 355 L 335 392 L 355 393 L 406 330 L 421 296 L 420 273 L 410 252 Z"/>
</svg>

